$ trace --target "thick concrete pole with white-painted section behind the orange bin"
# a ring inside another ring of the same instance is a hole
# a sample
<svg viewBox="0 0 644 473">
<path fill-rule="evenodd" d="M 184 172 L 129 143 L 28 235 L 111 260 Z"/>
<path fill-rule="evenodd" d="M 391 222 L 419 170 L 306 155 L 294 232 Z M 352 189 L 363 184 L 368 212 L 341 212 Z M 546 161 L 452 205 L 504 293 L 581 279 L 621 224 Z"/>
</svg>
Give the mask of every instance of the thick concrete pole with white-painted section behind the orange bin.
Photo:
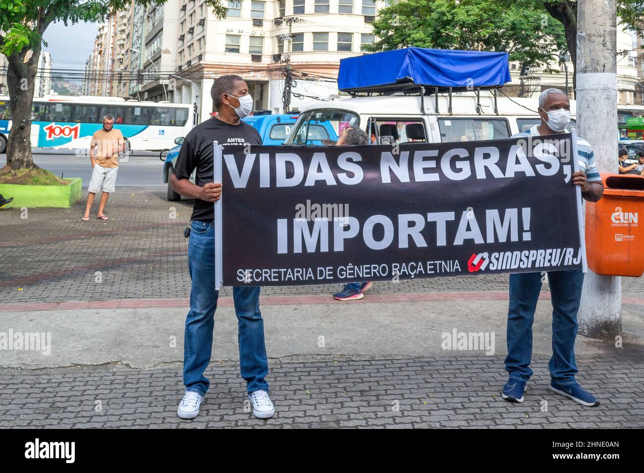
<svg viewBox="0 0 644 473">
<path fill-rule="evenodd" d="M 600 172 L 618 172 L 616 51 L 615 0 L 580 0 L 577 6 L 577 130 L 591 144 Z M 621 277 L 588 271 L 578 322 L 579 332 L 589 337 L 612 339 L 621 333 Z"/>
</svg>

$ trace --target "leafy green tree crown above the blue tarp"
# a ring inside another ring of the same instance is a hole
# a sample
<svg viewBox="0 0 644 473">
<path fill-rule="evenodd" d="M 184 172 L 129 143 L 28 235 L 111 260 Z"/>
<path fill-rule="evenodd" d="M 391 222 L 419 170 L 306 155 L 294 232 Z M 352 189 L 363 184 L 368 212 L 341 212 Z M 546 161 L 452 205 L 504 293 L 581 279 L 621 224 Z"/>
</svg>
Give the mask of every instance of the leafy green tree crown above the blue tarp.
<svg viewBox="0 0 644 473">
<path fill-rule="evenodd" d="M 566 49 L 564 28 L 544 21 L 535 0 L 400 0 L 379 11 L 372 51 L 408 46 L 506 51 L 510 60 L 541 66 Z"/>
</svg>

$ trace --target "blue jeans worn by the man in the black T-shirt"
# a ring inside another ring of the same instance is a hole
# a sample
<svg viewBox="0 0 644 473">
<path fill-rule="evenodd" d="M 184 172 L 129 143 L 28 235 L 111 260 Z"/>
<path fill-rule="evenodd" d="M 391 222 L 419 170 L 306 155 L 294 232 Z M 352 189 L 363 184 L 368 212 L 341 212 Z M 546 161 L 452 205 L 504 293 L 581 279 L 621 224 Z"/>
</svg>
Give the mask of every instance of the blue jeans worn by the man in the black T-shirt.
<svg viewBox="0 0 644 473">
<path fill-rule="evenodd" d="M 194 220 L 188 245 L 188 266 L 193 287 L 190 311 L 185 319 L 184 384 L 186 391 L 205 394 L 210 382 L 204 371 L 213 349 L 214 311 L 219 293 L 214 290 L 214 228 Z M 240 371 L 248 393 L 269 391 L 265 377 L 269 362 L 264 344 L 264 322 L 260 313 L 260 288 L 232 288 L 235 313 L 239 321 Z"/>
</svg>

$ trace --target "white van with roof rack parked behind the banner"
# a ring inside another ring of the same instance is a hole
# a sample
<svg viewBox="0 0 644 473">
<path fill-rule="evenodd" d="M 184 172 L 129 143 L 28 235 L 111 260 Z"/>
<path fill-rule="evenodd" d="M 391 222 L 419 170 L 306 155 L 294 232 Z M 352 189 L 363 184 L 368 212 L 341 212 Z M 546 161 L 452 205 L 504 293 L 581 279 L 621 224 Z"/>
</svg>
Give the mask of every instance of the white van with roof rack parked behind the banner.
<svg viewBox="0 0 644 473">
<path fill-rule="evenodd" d="M 336 141 L 347 126 L 360 127 L 376 143 L 440 143 L 498 140 L 540 123 L 536 98 L 495 97 L 491 91 L 451 95 L 377 95 L 313 100 L 302 107 L 287 145 L 320 145 Z M 437 103 L 438 102 L 438 103 Z M 495 107 L 496 102 L 496 107 Z M 576 103 L 571 100 L 576 127 Z"/>
</svg>

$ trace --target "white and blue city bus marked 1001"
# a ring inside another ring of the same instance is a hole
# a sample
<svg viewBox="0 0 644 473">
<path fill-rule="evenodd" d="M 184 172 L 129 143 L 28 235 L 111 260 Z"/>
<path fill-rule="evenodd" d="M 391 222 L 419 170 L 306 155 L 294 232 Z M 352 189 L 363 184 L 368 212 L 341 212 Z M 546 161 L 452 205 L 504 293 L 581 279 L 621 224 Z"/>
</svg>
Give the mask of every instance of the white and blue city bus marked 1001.
<svg viewBox="0 0 644 473">
<path fill-rule="evenodd" d="M 104 115 L 114 116 L 114 127 L 129 151 L 160 151 L 193 128 L 193 107 L 169 102 L 139 102 L 120 97 L 48 95 L 33 99 L 32 147 L 88 148 Z M 0 153 L 11 133 L 9 97 L 0 95 Z"/>
</svg>

